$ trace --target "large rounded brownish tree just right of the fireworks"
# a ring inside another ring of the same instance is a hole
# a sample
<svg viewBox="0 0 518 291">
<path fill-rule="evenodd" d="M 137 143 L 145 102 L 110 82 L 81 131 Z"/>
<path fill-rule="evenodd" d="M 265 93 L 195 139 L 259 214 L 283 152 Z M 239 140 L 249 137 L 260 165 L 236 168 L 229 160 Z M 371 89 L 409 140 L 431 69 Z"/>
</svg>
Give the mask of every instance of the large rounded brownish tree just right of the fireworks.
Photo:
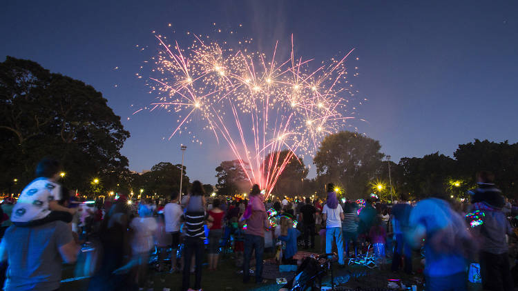
<svg viewBox="0 0 518 291">
<path fill-rule="evenodd" d="M 380 149 L 379 141 L 356 132 L 338 132 L 325 137 L 313 163 L 318 178 L 339 185 L 349 198 L 359 198 L 370 193 L 369 183 L 384 156 Z"/>
</svg>

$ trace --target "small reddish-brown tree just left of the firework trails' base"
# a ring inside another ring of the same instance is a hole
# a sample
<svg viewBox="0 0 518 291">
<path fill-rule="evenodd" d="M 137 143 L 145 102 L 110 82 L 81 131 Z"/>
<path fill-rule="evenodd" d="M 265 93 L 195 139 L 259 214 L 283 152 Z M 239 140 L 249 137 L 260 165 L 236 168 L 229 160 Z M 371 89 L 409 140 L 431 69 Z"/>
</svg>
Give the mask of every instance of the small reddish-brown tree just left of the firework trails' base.
<svg viewBox="0 0 518 291">
<path fill-rule="evenodd" d="M 247 166 L 247 163 L 244 163 Z M 239 160 L 222 161 L 216 170 L 218 184 L 215 185 L 220 195 L 233 195 L 247 192 L 250 182 L 247 173 L 242 168 Z"/>
</svg>

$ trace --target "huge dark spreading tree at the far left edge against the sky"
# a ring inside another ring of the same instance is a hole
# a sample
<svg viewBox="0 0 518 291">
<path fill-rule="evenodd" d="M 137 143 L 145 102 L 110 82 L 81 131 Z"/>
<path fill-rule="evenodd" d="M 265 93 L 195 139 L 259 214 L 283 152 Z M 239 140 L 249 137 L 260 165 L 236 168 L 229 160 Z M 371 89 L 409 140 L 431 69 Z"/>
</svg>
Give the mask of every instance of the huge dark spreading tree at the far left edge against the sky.
<svg viewBox="0 0 518 291">
<path fill-rule="evenodd" d="M 28 183 L 45 156 L 60 159 L 64 184 L 79 190 L 128 165 L 120 149 L 129 132 L 102 94 L 33 61 L 0 63 L 0 132 L 2 185 L 13 177 Z"/>
</svg>

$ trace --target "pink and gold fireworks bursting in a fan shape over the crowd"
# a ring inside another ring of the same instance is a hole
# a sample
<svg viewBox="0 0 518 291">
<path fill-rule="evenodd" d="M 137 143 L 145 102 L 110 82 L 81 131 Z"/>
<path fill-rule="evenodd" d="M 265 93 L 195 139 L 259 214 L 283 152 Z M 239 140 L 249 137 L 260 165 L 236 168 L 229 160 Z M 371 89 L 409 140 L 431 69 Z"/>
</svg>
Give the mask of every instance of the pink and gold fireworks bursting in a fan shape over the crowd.
<svg viewBox="0 0 518 291">
<path fill-rule="evenodd" d="M 171 137 L 202 122 L 218 143 L 220 138 L 228 143 L 247 179 L 267 195 L 292 159 L 301 163 L 313 155 L 325 135 L 352 118 L 345 116 L 343 95 L 351 94 L 345 60 L 354 49 L 311 70 L 312 59 L 296 57 L 293 36 L 289 58 L 279 62 L 278 42 L 268 59 L 262 52 L 224 48 L 196 35 L 186 49 L 155 37 L 163 50 L 153 70 L 160 77 L 150 77 L 158 93 L 151 111 L 171 108 L 179 115 Z M 288 154 L 282 156 L 283 149 Z"/>
</svg>

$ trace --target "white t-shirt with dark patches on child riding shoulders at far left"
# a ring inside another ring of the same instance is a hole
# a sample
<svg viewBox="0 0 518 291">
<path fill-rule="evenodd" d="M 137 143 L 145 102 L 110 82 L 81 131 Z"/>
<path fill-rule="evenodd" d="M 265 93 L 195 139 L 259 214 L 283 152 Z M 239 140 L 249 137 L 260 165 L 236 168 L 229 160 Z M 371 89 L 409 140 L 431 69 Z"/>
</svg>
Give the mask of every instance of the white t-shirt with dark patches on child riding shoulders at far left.
<svg viewBox="0 0 518 291">
<path fill-rule="evenodd" d="M 30 182 L 12 208 L 11 221 L 28 222 L 42 219 L 50 214 L 48 202 L 61 199 L 61 186 L 47 178 Z"/>
</svg>

